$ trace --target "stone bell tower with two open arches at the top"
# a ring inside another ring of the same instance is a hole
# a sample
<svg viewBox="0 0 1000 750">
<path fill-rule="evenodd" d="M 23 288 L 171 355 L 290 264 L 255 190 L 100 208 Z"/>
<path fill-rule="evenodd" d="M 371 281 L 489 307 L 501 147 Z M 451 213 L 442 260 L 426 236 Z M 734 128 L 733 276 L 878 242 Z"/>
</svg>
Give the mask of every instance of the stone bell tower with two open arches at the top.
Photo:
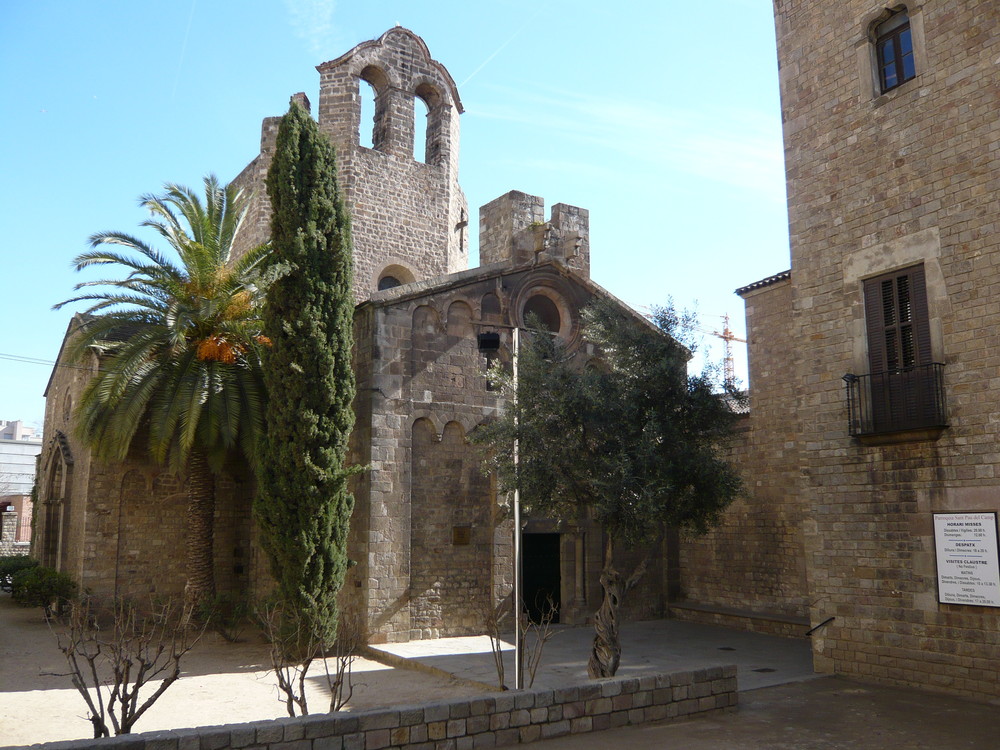
<svg viewBox="0 0 1000 750">
<path fill-rule="evenodd" d="M 317 70 L 319 125 L 337 147 L 353 222 L 356 299 L 467 268 L 468 207 L 458 184 L 462 103 L 448 71 L 399 26 Z M 362 94 L 374 96 L 374 122 L 362 122 Z M 369 129 L 366 148 L 361 132 Z"/>
</svg>

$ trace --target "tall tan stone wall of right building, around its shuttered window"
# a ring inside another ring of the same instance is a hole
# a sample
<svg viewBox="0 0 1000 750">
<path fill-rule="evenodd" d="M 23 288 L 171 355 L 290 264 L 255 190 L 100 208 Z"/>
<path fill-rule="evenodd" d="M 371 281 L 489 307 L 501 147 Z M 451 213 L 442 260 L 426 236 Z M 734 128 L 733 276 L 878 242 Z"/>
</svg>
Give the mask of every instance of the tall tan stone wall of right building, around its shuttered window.
<svg viewBox="0 0 1000 750">
<path fill-rule="evenodd" d="M 1000 610 L 938 603 L 931 514 L 1000 510 L 1000 6 L 905 9 L 916 75 L 881 93 L 872 34 L 884 5 L 775 1 L 801 357 L 797 491 L 810 616 L 835 618 L 817 631 L 816 665 L 995 698 Z M 926 275 L 948 428 L 852 439 L 841 376 L 869 372 L 864 282 L 913 266 Z"/>
</svg>

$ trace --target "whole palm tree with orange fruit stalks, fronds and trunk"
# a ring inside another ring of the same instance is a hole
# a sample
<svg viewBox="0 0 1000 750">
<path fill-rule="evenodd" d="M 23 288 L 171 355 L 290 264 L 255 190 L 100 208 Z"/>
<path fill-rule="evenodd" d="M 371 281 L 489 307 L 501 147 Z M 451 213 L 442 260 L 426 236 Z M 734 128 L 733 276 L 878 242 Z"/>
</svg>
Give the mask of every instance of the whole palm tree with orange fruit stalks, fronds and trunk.
<svg viewBox="0 0 1000 750">
<path fill-rule="evenodd" d="M 140 205 L 153 229 L 179 258 L 171 260 L 121 232 L 90 238 L 76 270 L 117 266 L 121 279 L 77 284 L 63 305 L 87 300 L 71 352 L 96 351 L 97 375 L 75 413 L 76 430 L 98 460 L 123 461 L 133 448 L 186 474 L 187 583 L 185 603 L 215 593 L 213 518 L 215 474 L 242 453 L 253 461 L 262 430 L 259 274 L 267 245 L 233 258 L 247 202 L 233 185 L 205 178 L 204 202 L 192 190 L 165 186 Z M 131 252 L 121 252 L 125 249 Z"/>
</svg>

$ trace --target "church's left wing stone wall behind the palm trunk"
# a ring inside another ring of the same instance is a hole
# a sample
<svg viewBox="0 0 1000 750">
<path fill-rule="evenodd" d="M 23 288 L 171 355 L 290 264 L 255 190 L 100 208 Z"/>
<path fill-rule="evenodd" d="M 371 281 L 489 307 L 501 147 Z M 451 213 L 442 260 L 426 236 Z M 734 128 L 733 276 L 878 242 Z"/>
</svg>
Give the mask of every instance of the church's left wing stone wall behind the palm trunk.
<svg viewBox="0 0 1000 750">
<path fill-rule="evenodd" d="M 124 463 L 92 460 L 90 449 L 75 436 L 71 418 L 93 374 L 57 365 L 46 390 L 45 434 L 51 437 L 40 456 L 32 554 L 97 596 L 180 598 L 186 580 L 183 477 L 148 459 L 141 434 Z M 216 483 L 220 592 L 243 592 L 249 585 L 252 497 L 246 467 L 227 467 Z"/>
</svg>

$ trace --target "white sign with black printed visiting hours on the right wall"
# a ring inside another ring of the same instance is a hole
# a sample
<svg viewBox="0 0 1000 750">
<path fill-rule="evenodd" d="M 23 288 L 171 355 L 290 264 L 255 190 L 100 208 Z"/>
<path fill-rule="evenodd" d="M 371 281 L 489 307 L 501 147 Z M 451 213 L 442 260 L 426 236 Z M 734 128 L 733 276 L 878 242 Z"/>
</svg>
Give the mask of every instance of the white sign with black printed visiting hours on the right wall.
<svg viewBox="0 0 1000 750">
<path fill-rule="evenodd" d="M 996 513 L 935 513 L 938 601 L 1000 607 Z"/>
</svg>

